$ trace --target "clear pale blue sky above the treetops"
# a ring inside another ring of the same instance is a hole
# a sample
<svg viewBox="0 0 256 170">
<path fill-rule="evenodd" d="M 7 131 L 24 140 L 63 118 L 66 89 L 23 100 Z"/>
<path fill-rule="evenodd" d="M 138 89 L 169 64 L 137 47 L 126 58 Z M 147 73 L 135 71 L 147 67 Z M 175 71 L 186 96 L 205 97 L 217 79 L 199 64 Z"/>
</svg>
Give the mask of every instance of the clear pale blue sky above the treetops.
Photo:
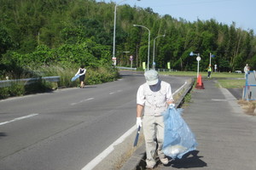
<svg viewBox="0 0 256 170">
<path fill-rule="evenodd" d="M 256 0 L 96 0 L 96 2 L 129 4 L 141 8 L 152 8 L 160 15 L 170 14 L 173 18 L 194 22 L 214 19 L 218 23 L 256 34 Z M 121 2 L 121 3 L 120 3 Z M 139 24 L 139 23 L 138 23 Z"/>
</svg>

